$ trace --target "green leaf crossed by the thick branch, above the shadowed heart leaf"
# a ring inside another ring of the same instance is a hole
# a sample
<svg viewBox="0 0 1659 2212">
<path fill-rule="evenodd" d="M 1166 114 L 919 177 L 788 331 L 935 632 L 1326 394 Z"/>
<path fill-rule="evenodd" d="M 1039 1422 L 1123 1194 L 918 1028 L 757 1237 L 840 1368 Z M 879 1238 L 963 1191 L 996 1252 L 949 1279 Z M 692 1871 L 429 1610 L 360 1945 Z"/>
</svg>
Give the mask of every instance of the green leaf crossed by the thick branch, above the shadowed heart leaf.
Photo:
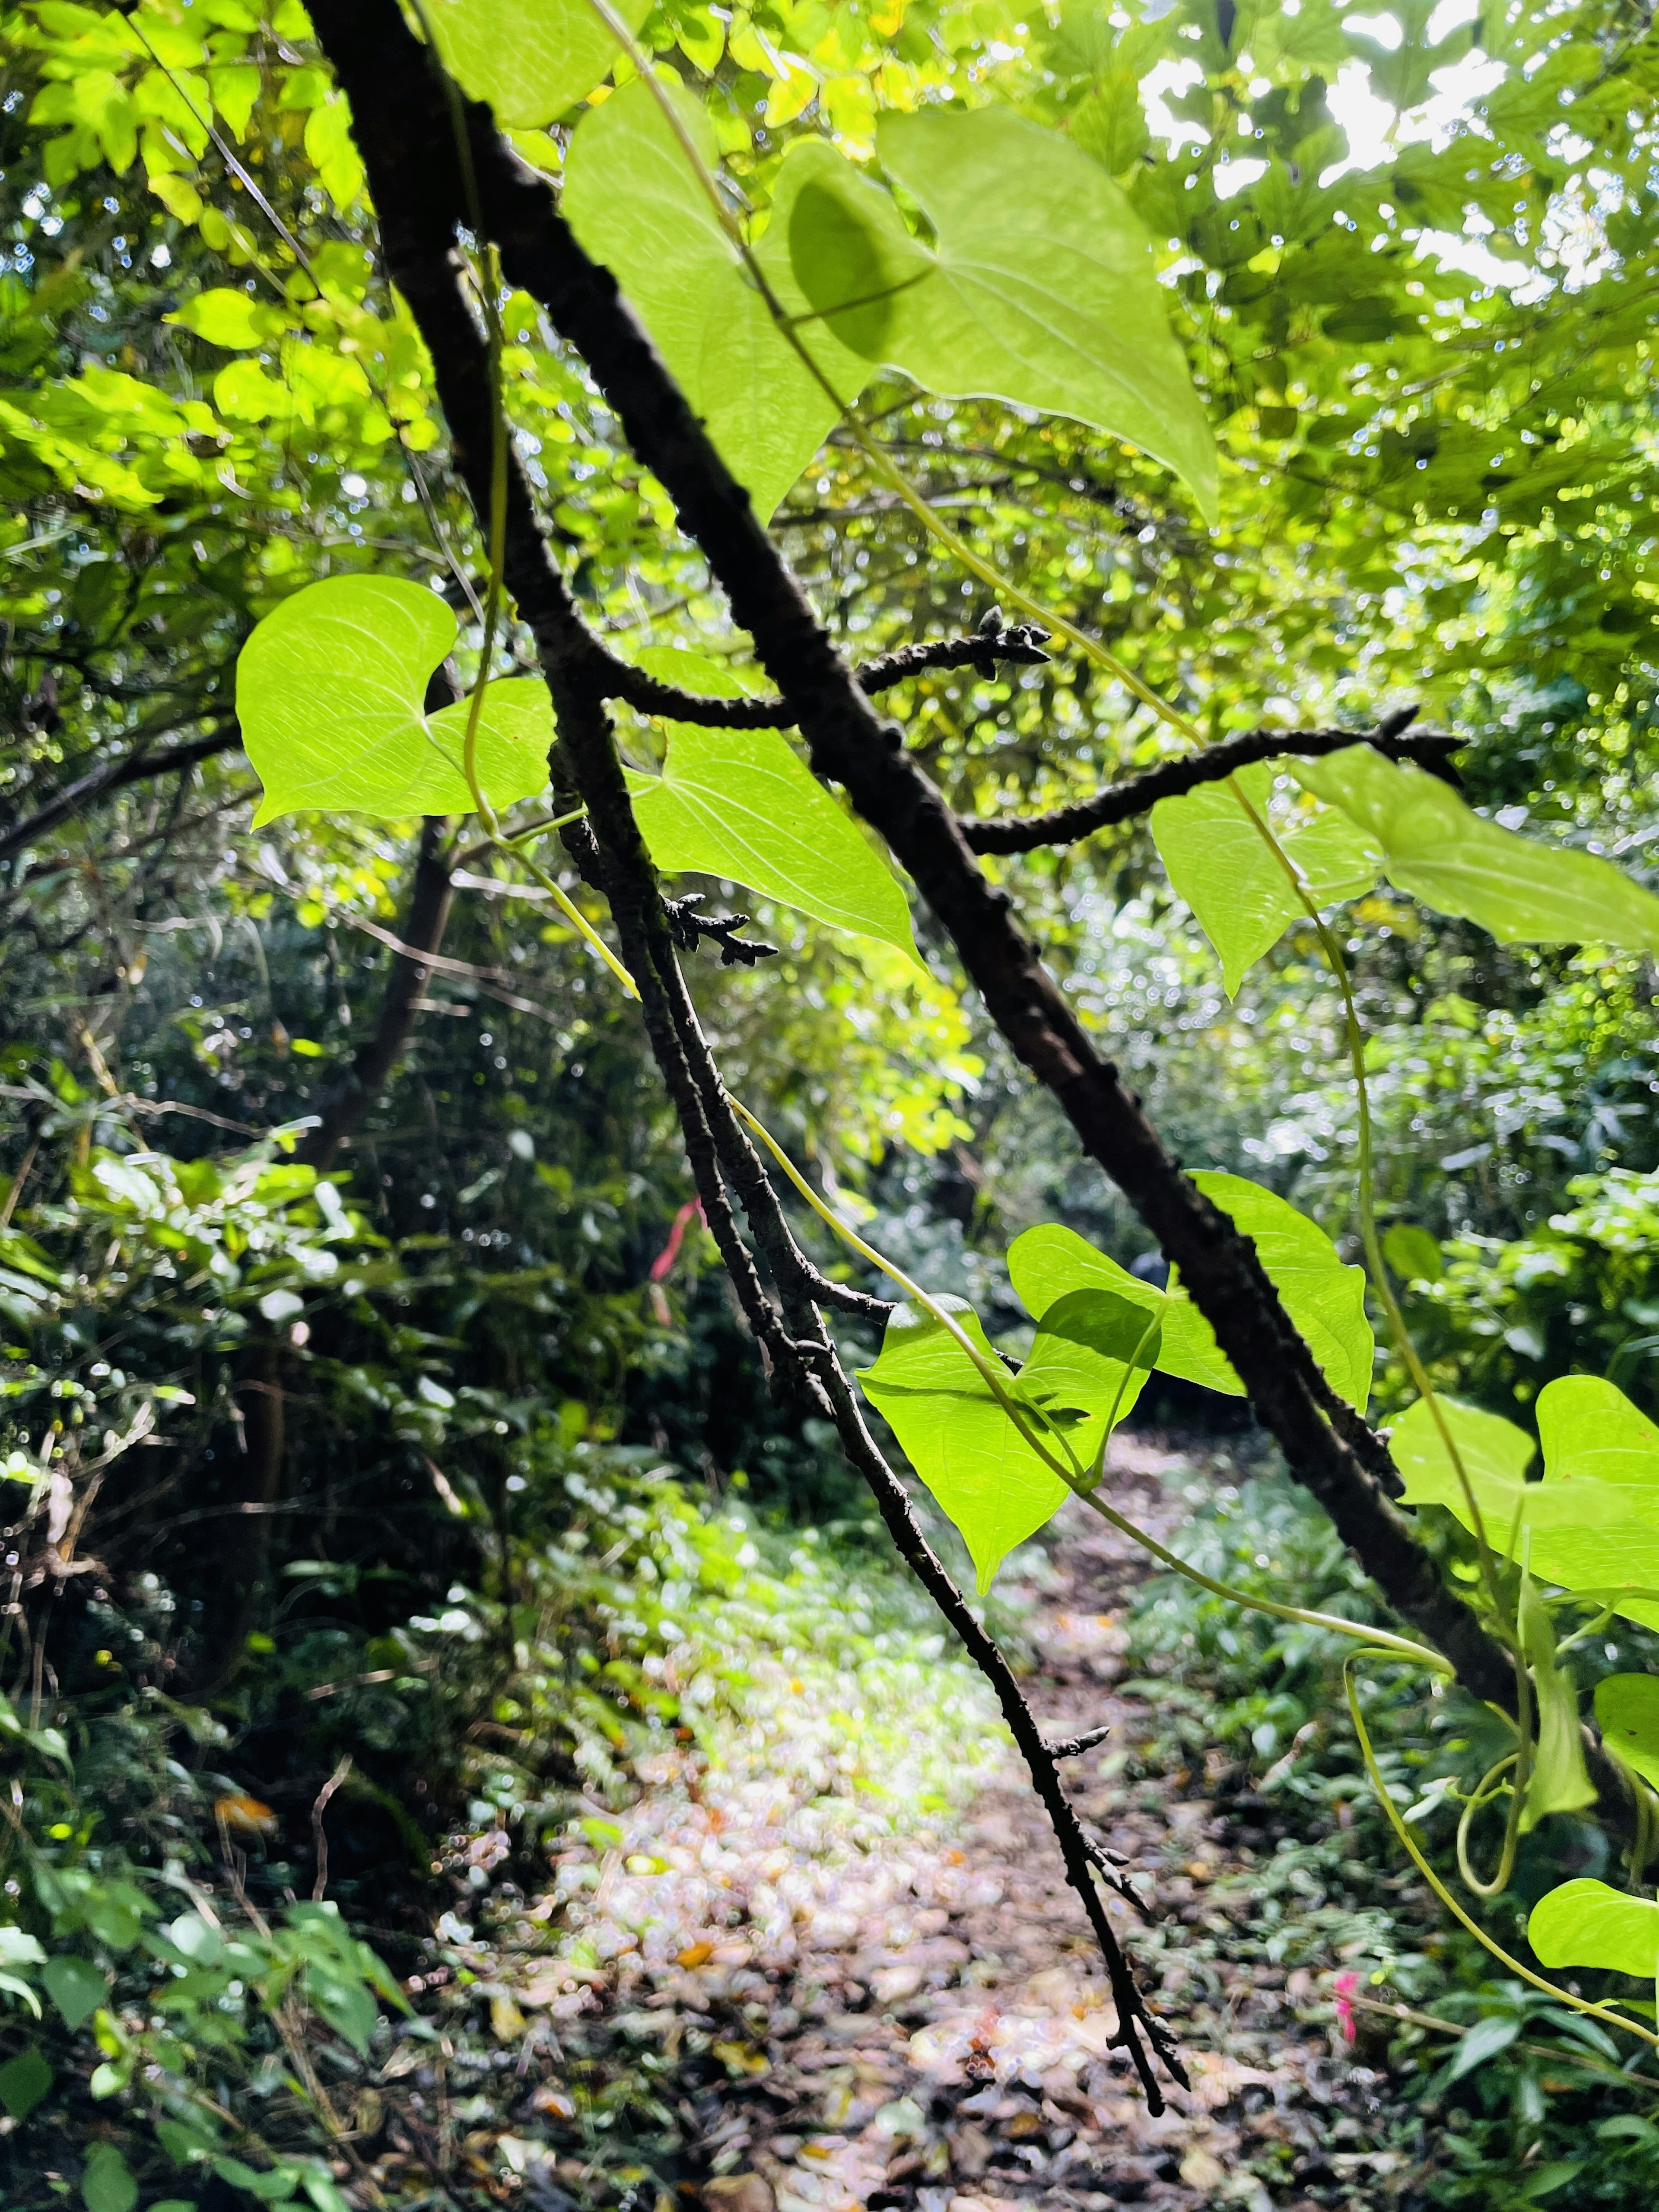
<svg viewBox="0 0 1659 2212">
<path fill-rule="evenodd" d="M 1365 1270 L 1345 1265 L 1316 1221 L 1261 1183 L 1210 1168 L 1197 1170 L 1192 1181 L 1234 1228 L 1250 1237 L 1327 1383 L 1363 1411 L 1371 1396 L 1376 1349 L 1371 1323 L 1365 1318 Z M 1234 1398 L 1243 1396 L 1243 1383 L 1217 1345 L 1214 1329 L 1181 1287 L 1179 1272 L 1170 1272 L 1168 1292 L 1157 1292 L 1104 1252 L 1095 1252 L 1073 1230 L 1044 1225 L 1013 1241 L 1009 1274 L 1033 1312 L 1042 1312 L 1044 1298 L 1055 1298 L 1077 1283 L 1117 1290 L 1161 1316 L 1164 1349 L 1157 1365 L 1164 1374 Z"/>
</svg>

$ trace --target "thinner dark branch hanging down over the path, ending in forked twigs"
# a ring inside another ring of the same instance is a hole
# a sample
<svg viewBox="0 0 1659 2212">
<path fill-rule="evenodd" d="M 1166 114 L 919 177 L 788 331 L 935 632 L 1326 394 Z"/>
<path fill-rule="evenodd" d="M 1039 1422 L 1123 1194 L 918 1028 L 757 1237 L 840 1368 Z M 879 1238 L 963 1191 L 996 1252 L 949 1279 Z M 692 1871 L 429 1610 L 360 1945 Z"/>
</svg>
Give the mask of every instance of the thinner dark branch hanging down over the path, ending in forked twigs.
<svg viewBox="0 0 1659 2212">
<path fill-rule="evenodd" d="M 438 113 L 431 117 L 436 88 L 427 73 L 427 58 L 407 33 L 392 0 L 385 4 L 380 0 L 369 0 L 369 4 L 325 0 L 316 22 L 323 46 L 352 97 L 358 146 L 380 212 L 389 274 L 409 299 L 431 352 L 460 476 L 473 504 L 487 511 L 491 394 L 478 334 L 460 310 L 453 270 L 447 268 L 465 199 L 456 197 L 449 206 L 434 208 L 425 188 L 429 175 L 440 168 L 440 148 L 447 142 L 445 104 L 438 100 Z M 422 111 L 427 113 L 422 115 Z M 458 177 L 453 186 L 458 188 Z M 460 310 L 458 314 L 447 307 L 445 290 L 453 307 Z M 520 617 L 535 635 L 553 690 L 560 730 L 553 761 L 555 794 L 564 796 L 568 790 L 586 805 L 586 818 L 564 832 L 566 849 L 584 876 L 595 880 L 611 900 L 617 938 L 639 989 L 653 1055 L 681 1121 L 703 1214 L 732 1270 L 750 1327 L 768 1349 L 779 1380 L 810 1394 L 832 1413 L 902 1557 L 993 1683 L 1055 1825 L 1068 1880 L 1102 1944 L 1117 2002 L 1117 2042 L 1130 2053 L 1146 2084 L 1148 2104 L 1152 2110 L 1161 2110 L 1155 2057 L 1177 2079 L 1186 2079 L 1170 2035 L 1148 2013 L 1135 1989 L 1117 1931 L 1095 1887 L 1088 1838 L 1060 1785 L 1055 1763 L 1042 1745 L 1031 1708 L 995 1641 L 973 1617 L 967 1599 L 922 1537 L 902 1484 L 869 1440 L 823 1321 L 814 1312 L 814 1270 L 807 1270 L 799 1254 L 770 1177 L 730 1110 L 675 960 L 668 914 L 657 896 L 655 872 L 633 818 L 633 803 L 604 712 L 608 670 L 595 664 L 597 648 L 582 630 L 551 566 L 526 487 L 515 469 L 509 484 L 507 584 L 518 599 Z M 774 1267 L 783 1312 L 765 1296 L 748 1245 L 737 1232 L 726 1197 L 728 1177 Z"/>
</svg>

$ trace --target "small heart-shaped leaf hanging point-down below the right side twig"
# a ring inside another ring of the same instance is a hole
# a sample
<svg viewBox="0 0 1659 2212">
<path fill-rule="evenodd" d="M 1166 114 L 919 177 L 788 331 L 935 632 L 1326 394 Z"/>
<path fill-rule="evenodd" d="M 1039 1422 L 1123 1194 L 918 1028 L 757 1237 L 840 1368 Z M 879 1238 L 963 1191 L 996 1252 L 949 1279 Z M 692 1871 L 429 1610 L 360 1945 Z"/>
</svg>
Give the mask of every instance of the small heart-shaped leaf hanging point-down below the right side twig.
<svg viewBox="0 0 1659 2212">
<path fill-rule="evenodd" d="M 1263 821 L 1274 774 L 1267 761 L 1256 761 L 1234 776 Z M 1301 823 L 1274 825 L 1274 834 L 1316 907 L 1360 898 L 1378 878 L 1380 847 L 1336 807 L 1310 810 Z M 1152 838 L 1170 885 L 1221 956 L 1228 995 L 1237 998 L 1256 960 L 1307 911 L 1296 885 L 1225 783 L 1159 799 Z"/>
</svg>

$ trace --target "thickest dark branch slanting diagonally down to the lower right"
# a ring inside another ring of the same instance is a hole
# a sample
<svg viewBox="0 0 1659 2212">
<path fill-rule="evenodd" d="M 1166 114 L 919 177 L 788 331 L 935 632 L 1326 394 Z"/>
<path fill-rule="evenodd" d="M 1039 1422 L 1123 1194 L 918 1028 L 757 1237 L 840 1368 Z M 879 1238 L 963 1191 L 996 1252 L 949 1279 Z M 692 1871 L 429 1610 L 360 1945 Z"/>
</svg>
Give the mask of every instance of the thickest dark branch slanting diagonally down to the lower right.
<svg viewBox="0 0 1659 2212">
<path fill-rule="evenodd" d="M 425 77 L 425 55 L 392 0 L 330 0 L 314 18 L 323 44 L 352 91 L 363 150 L 376 177 L 387 252 L 438 358 L 429 325 L 436 241 L 467 217 L 458 164 L 440 153 L 449 128 L 442 91 Z M 396 102 L 389 84 L 396 82 Z M 1513 1697 L 1509 1655 L 1455 1597 L 1416 1537 L 1413 1524 L 1325 1413 L 1323 1378 L 1292 1327 L 1254 1243 L 1239 1234 L 1181 1175 L 1139 1102 L 1084 1033 L 1071 1004 L 1011 918 L 1006 891 L 987 883 L 940 792 L 898 732 L 876 719 L 867 695 L 838 659 L 748 493 L 710 445 L 650 341 L 622 303 L 615 279 L 597 268 L 562 221 L 546 179 L 524 168 L 498 137 L 484 108 L 467 111 L 469 155 L 484 230 L 502 254 L 509 283 L 549 312 L 555 330 L 593 369 L 633 451 L 653 469 L 730 595 L 737 622 L 754 639 L 761 666 L 790 703 L 818 774 L 841 783 L 858 814 L 909 869 L 922 898 L 956 942 L 991 1020 L 1031 1073 L 1055 1095 L 1088 1152 L 1126 1192 L 1179 1265 L 1194 1303 L 1245 1380 L 1256 1413 L 1274 1433 L 1298 1480 L 1332 1515 L 1387 1601 L 1455 1666 L 1480 1699 Z M 409 254 L 414 239 L 420 246 Z M 453 299 L 453 290 L 451 290 Z M 476 334 L 467 325 L 476 345 Z M 480 372 L 482 374 L 482 372 Z M 445 411 L 456 422 L 445 394 Z M 473 487 L 478 495 L 478 487 Z M 529 493 L 518 487 L 513 531 L 533 526 Z M 522 586 L 509 577 L 511 588 Z M 586 657 L 602 648 L 568 604 L 531 622 L 542 653 Z M 608 690 L 608 675 L 597 677 Z M 1380 1449 L 1380 1447 L 1378 1447 Z"/>
</svg>

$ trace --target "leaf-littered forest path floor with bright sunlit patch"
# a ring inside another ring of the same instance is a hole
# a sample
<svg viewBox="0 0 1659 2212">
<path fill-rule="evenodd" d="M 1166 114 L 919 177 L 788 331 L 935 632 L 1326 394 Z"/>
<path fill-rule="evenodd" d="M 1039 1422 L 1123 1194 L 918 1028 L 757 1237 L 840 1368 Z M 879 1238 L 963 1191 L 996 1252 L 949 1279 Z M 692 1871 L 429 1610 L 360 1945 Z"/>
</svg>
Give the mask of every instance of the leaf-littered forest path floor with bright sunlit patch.
<svg viewBox="0 0 1659 2212">
<path fill-rule="evenodd" d="M 1128 1511 L 1168 1533 L 1192 1462 L 1119 1449 Z M 1332 2026 L 1327 1971 L 1267 1964 L 1252 1933 L 1265 1803 L 1217 1803 L 1168 1761 L 1121 1776 L 1157 1736 L 1146 1683 L 1124 1688 L 1139 1555 L 1073 1509 L 1048 1557 L 1026 1690 L 1051 1736 L 1113 1725 L 1068 1778 L 1141 1876 L 1133 1951 L 1190 2090 L 1152 2117 L 1110 2048 L 1099 1955 L 1000 1728 L 964 1730 L 958 1805 L 869 1820 L 823 1794 L 823 1759 L 668 1750 L 544 1896 L 509 1893 L 484 1933 L 440 1924 L 440 2042 L 405 2037 L 361 2115 L 380 2190 L 538 2212 L 1391 2201 L 1407 2159 L 1383 2148 L 1385 2081 Z M 480 1836 L 473 1860 L 489 1851 Z"/>
</svg>

